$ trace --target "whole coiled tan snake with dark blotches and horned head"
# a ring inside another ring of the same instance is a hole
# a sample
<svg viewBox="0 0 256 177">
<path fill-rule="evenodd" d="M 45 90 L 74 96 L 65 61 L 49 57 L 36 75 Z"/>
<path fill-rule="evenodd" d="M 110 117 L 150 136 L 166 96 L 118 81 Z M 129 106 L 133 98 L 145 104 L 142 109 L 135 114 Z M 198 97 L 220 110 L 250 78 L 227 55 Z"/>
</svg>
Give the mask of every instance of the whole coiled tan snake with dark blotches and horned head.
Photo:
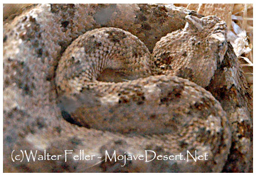
<svg viewBox="0 0 256 177">
<path fill-rule="evenodd" d="M 100 159 L 12 162 L 13 150 Z M 207 154 L 207 160 L 104 160 Z M 33 5 L 4 25 L 5 172 L 250 172 L 252 98 L 225 22 L 172 5 Z"/>
</svg>

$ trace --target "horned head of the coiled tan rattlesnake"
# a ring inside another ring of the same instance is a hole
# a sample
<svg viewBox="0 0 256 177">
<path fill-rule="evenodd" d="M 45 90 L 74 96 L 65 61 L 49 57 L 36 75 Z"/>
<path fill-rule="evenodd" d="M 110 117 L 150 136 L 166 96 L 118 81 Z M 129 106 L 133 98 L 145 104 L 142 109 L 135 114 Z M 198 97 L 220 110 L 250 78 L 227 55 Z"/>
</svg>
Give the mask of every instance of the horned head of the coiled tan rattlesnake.
<svg viewBox="0 0 256 177">
<path fill-rule="evenodd" d="M 206 87 L 227 50 L 226 24 L 215 16 L 187 15 L 185 19 L 184 30 L 162 37 L 152 55 L 162 73 L 189 78 Z"/>
</svg>

